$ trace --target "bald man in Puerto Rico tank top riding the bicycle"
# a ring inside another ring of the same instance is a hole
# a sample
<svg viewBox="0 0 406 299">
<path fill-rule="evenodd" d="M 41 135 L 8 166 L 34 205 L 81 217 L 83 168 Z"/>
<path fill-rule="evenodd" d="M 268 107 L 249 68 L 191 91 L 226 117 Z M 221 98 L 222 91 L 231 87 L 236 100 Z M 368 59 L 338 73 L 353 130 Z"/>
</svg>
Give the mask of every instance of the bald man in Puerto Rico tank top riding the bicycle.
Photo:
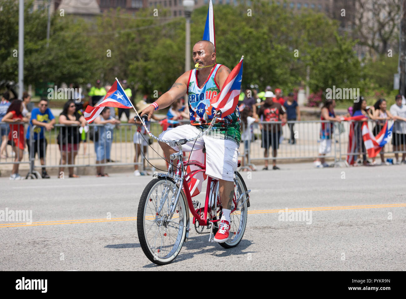
<svg viewBox="0 0 406 299">
<path fill-rule="evenodd" d="M 163 140 L 177 140 L 196 137 L 208 127 L 215 114 L 210 106 L 210 99 L 217 96 L 223 87 L 227 76 L 231 72 L 225 65 L 216 63 L 216 50 L 210 41 L 198 41 L 193 46 L 193 61 L 199 67 L 181 75 L 166 93 L 155 103 L 144 109 L 140 115 L 148 114 L 148 120 L 155 110 L 170 106 L 177 98 L 188 94 L 190 124 L 185 124 L 162 132 L 159 137 Z M 212 111 L 207 113 L 209 110 Z M 222 217 L 214 241 L 227 241 L 230 231 L 231 203 L 234 195 L 234 172 L 237 170 L 238 148 L 240 146 L 240 112 L 235 111 L 220 118 L 214 124 L 214 130 L 197 139 L 196 143 L 184 144 L 183 150 L 190 152 L 206 148 L 206 175 L 218 179 L 220 183 L 220 199 L 222 203 Z M 170 147 L 160 143 L 166 157 L 179 151 L 177 147 Z"/>
</svg>

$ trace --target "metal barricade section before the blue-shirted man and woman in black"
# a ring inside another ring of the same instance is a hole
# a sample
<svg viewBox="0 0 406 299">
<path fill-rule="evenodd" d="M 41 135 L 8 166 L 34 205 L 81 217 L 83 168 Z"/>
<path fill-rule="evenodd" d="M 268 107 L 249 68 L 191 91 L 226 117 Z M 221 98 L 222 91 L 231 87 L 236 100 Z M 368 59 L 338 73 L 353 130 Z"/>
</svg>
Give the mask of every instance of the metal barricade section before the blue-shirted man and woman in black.
<svg viewBox="0 0 406 299">
<path fill-rule="evenodd" d="M 66 168 L 66 167 L 96 167 L 96 166 L 134 166 L 143 165 L 143 156 L 140 156 L 140 162 L 134 162 L 135 148 L 133 142 L 133 135 L 137 130 L 134 124 L 119 124 L 114 127 L 112 131 L 101 130 L 104 127 L 103 124 L 90 124 L 89 132 L 85 134 L 85 140 L 82 139 L 82 134 L 78 133 L 79 143 L 77 139 L 74 140 L 74 135 L 70 134 L 70 138 L 63 139 L 63 134 L 61 130 L 79 130 L 79 125 L 65 125 L 65 124 L 55 124 L 54 129 L 50 131 L 44 130 L 44 138 L 35 141 L 34 131 L 39 129 L 37 126 L 31 127 L 30 132 L 30 144 L 32 148 L 37 149 L 37 153 L 43 151 L 44 164 L 41 165 L 39 154 L 35 155 L 34 150 L 30 151 L 30 172 L 32 178 L 39 177 L 39 172 L 36 171 L 37 168 Z M 97 128 L 97 129 L 96 129 Z M 111 139 L 110 142 L 101 139 L 100 132 L 106 133 L 106 139 Z M 39 130 L 38 130 L 39 132 Z M 96 136 L 99 135 L 98 141 Z M 93 138 L 91 138 L 91 136 Z M 59 142 L 58 142 L 59 141 Z M 75 145 L 77 144 L 77 145 Z M 102 163 L 96 163 L 96 151 L 95 146 L 102 146 L 104 150 L 104 155 L 101 160 Z M 106 155 L 108 147 L 110 146 L 110 157 Z M 77 151 L 75 151 L 75 148 Z M 86 148 L 86 152 L 84 152 Z M 64 163 L 62 163 L 63 158 L 65 158 Z M 108 161 L 110 158 L 110 161 Z M 106 160 L 106 161 L 104 161 Z M 66 170 L 64 169 L 66 172 Z"/>
</svg>

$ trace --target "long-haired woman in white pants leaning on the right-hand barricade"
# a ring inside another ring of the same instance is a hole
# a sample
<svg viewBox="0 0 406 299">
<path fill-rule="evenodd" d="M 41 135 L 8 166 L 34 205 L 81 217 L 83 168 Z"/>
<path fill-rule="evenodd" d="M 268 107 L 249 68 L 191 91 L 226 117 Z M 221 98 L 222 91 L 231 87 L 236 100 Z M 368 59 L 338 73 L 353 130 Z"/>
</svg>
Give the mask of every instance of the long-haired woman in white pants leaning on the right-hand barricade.
<svg viewBox="0 0 406 299">
<path fill-rule="evenodd" d="M 322 122 L 320 127 L 320 147 L 319 157 L 314 162 L 317 168 L 329 167 L 326 163 L 324 156 L 331 151 L 331 140 L 333 139 L 333 121 L 340 122 L 340 118 L 336 117 L 335 112 L 335 100 L 325 100 L 321 113 L 320 120 L 329 120 L 330 122 Z"/>
</svg>

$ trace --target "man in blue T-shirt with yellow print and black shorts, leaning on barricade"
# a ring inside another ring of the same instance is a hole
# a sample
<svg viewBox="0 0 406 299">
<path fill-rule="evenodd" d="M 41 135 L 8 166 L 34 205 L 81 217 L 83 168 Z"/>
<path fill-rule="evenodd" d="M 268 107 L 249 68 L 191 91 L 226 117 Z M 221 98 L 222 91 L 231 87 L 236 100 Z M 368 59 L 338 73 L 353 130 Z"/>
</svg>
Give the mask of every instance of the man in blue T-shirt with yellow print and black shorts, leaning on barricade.
<svg viewBox="0 0 406 299">
<path fill-rule="evenodd" d="M 48 141 L 45 138 L 44 129 L 47 131 L 51 131 L 54 128 L 54 124 L 56 122 L 51 109 L 48 108 L 48 103 L 48 99 L 41 98 L 38 104 L 39 108 L 32 109 L 30 125 L 28 127 L 26 135 L 30 157 L 31 155 L 33 155 L 33 157 L 35 158 L 35 154 L 38 153 L 41 165 L 45 165 L 44 158 L 48 144 Z M 32 129 L 33 126 L 35 126 L 34 129 Z M 32 136 L 30 136 L 31 133 L 33 133 Z M 32 148 L 32 146 L 34 148 Z M 31 151 L 33 151 L 34 153 L 32 154 Z M 42 167 L 42 178 L 50 178 L 45 167 Z"/>
</svg>

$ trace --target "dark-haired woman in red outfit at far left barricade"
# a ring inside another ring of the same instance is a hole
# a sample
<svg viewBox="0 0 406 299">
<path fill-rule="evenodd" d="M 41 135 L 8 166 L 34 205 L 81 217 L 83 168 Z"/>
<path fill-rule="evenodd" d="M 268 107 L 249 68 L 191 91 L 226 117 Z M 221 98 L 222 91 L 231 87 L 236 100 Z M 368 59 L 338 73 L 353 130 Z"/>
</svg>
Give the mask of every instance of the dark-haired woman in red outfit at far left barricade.
<svg viewBox="0 0 406 299">
<path fill-rule="evenodd" d="M 28 122 L 28 118 L 22 115 L 23 104 L 21 100 L 13 100 L 6 115 L 2 118 L 2 122 L 10 123 L 9 140 L 13 142 L 13 151 L 15 153 L 14 162 L 20 162 L 24 155 L 25 138 L 24 138 L 24 125 L 13 124 L 15 122 Z M 11 180 L 19 180 L 22 177 L 18 174 L 18 163 L 13 164 L 11 171 Z"/>
</svg>

